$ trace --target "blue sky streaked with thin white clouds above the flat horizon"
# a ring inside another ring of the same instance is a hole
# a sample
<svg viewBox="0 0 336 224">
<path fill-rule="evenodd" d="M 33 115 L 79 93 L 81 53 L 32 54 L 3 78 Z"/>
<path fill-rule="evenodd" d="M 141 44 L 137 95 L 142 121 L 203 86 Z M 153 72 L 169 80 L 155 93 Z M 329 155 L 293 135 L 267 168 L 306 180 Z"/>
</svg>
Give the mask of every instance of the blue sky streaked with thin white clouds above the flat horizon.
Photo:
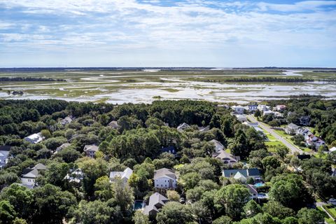
<svg viewBox="0 0 336 224">
<path fill-rule="evenodd" d="M 336 67 L 336 1 L 1 0 L 13 66 Z"/>
</svg>

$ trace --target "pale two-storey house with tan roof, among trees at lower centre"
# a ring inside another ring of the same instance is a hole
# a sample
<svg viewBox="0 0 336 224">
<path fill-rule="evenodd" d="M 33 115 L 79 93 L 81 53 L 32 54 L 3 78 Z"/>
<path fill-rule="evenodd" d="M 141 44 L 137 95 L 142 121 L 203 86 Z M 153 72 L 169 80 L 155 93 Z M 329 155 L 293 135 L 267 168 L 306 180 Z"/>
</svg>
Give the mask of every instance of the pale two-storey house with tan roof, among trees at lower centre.
<svg viewBox="0 0 336 224">
<path fill-rule="evenodd" d="M 162 168 L 155 170 L 154 187 L 155 188 L 176 188 L 176 174 L 174 170 Z"/>
</svg>

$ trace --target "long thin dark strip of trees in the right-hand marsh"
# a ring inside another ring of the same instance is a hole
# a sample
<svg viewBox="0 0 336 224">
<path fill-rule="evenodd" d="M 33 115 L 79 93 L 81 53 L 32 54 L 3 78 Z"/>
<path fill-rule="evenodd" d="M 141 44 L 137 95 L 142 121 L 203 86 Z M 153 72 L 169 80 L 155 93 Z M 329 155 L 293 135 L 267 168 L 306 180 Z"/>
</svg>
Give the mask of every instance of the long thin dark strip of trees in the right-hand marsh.
<svg viewBox="0 0 336 224">
<path fill-rule="evenodd" d="M 311 78 L 276 78 L 276 77 L 251 77 L 251 78 L 228 78 L 225 82 L 232 83 L 310 83 L 314 82 Z"/>
</svg>

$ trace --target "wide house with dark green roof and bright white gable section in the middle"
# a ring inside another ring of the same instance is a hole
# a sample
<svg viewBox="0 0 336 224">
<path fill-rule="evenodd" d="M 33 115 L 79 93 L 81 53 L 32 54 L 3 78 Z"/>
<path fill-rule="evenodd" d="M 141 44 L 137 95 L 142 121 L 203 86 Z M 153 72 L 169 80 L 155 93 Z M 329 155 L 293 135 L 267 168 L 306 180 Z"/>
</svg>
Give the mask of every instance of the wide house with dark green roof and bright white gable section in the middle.
<svg viewBox="0 0 336 224">
<path fill-rule="evenodd" d="M 223 176 L 227 178 L 234 178 L 241 181 L 241 183 L 246 183 L 248 178 L 252 178 L 253 181 L 258 182 L 261 180 L 260 171 L 256 168 L 251 169 L 224 169 Z"/>
</svg>

